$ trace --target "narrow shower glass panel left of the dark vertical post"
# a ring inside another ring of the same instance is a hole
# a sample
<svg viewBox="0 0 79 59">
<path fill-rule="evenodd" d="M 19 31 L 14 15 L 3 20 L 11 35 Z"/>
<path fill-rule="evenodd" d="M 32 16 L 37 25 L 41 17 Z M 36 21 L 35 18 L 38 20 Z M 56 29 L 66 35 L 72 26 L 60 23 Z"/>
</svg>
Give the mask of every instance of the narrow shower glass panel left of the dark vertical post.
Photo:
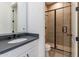
<svg viewBox="0 0 79 59">
<path fill-rule="evenodd" d="M 46 43 L 50 43 L 51 47 L 54 46 L 54 11 L 46 12 Z"/>
</svg>

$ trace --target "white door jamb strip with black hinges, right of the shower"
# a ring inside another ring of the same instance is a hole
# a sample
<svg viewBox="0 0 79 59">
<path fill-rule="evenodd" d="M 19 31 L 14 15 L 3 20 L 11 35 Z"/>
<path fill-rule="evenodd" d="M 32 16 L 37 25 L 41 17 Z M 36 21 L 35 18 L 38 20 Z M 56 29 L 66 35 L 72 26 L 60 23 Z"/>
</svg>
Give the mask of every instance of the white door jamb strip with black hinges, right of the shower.
<svg viewBox="0 0 79 59">
<path fill-rule="evenodd" d="M 77 50 L 77 11 L 76 11 L 77 3 L 72 3 L 72 56 L 76 57 L 78 50 Z"/>
</svg>

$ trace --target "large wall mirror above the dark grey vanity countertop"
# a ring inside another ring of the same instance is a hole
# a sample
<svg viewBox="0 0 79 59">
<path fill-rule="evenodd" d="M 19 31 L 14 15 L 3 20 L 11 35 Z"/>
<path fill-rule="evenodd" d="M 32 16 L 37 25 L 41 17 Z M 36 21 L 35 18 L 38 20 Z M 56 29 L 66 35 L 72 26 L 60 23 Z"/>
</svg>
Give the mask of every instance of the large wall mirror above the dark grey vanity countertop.
<svg viewBox="0 0 79 59">
<path fill-rule="evenodd" d="M 0 34 L 27 32 L 27 3 L 0 2 Z"/>
</svg>

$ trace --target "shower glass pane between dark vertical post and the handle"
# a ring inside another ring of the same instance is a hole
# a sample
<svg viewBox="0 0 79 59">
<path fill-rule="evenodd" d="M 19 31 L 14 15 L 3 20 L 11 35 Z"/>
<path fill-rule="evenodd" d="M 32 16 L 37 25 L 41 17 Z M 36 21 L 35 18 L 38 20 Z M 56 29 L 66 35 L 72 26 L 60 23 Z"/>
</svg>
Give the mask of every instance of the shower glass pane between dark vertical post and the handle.
<svg viewBox="0 0 79 59">
<path fill-rule="evenodd" d="M 63 12 L 63 9 L 56 10 L 56 48 L 60 50 L 64 50 Z"/>
</svg>

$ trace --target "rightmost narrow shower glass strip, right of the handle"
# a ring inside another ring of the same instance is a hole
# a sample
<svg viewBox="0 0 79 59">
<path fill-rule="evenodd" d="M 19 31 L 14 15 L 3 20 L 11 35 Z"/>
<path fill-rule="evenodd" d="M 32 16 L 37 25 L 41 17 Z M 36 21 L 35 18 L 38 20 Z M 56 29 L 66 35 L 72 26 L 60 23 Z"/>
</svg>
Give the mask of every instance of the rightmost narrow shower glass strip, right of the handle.
<svg viewBox="0 0 79 59">
<path fill-rule="evenodd" d="M 64 54 L 71 55 L 71 7 L 64 8 L 64 26 L 66 32 L 64 33 Z"/>
</svg>

